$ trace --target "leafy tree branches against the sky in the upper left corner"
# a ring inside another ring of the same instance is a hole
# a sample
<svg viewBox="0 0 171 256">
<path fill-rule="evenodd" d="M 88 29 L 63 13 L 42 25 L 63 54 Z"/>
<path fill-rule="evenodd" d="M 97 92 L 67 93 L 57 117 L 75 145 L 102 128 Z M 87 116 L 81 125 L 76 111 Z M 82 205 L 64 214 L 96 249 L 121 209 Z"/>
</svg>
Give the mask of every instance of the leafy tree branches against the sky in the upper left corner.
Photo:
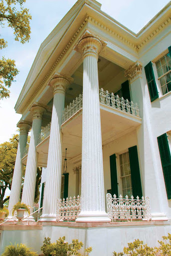
<svg viewBox="0 0 171 256">
<path fill-rule="evenodd" d="M 30 39 L 30 19 L 31 15 L 27 8 L 23 8 L 23 3 L 26 0 L 1 0 L 0 1 L 0 25 L 13 29 L 14 39 L 21 43 L 25 43 Z M 19 10 L 18 10 L 19 7 Z M 0 38 L 0 49 L 7 46 L 7 41 Z M 11 86 L 14 77 L 18 74 L 18 69 L 15 67 L 13 59 L 0 59 L 0 99 L 9 97 L 9 90 L 6 87 Z"/>
</svg>

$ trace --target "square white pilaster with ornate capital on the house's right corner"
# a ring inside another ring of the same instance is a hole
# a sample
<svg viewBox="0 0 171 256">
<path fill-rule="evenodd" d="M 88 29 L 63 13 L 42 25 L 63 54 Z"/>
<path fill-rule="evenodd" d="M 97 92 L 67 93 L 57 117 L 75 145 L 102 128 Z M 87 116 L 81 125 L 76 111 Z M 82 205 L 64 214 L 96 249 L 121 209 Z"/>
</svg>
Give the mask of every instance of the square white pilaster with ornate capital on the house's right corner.
<svg viewBox="0 0 171 256">
<path fill-rule="evenodd" d="M 149 95 L 147 81 L 143 73 L 142 64 L 136 61 L 127 70 L 125 76 L 130 79 L 133 102 L 140 108 L 142 124 L 137 127 L 138 153 L 141 172 L 143 195 L 150 197 L 153 220 L 167 220 L 167 195 L 162 168 L 159 169 L 157 159 L 160 159 L 157 137 L 151 126 Z M 148 105 L 149 104 L 149 105 Z"/>
</svg>

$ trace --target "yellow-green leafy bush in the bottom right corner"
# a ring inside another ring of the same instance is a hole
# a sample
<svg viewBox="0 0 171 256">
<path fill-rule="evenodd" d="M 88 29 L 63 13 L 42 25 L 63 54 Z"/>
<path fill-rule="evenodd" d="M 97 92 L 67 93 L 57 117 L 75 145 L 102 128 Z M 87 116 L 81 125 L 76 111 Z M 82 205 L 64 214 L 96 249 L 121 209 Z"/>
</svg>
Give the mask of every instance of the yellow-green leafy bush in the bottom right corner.
<svg viewBox="0 0 171 256">
<path fill-rule="evenodd" d="M 159 247 L 149 247 L 143 241 L 135 239 L 133 242 L 128 242 L 128 247 L 124 247 L 123 252 L 114 251 L 114 256 L 171 256 L 171 234 L 162 236 L 163 240 L 158 241 Z"/>
</svg>

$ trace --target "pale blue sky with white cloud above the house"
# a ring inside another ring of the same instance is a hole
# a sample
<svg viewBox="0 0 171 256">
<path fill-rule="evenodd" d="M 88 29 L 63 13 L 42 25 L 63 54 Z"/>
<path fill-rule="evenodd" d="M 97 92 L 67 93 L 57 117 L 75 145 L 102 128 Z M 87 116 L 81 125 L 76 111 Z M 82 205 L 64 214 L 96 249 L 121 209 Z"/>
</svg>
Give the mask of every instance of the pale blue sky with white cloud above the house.
<svg viewBox="0 0 171 256">
<path fill-rule="evenodd" d="M 169 0 L 98 0 L 101 9 L 134 32 L 147 24 Z M 0 50 L 0 57 L 15 59 L 19 74 L 10 87 L 10 98 L 0 101 L 0 143 L 16 133 L 16 123 L 21 118 L 14 105 L 31 68 L 41 42 L 74 5 L 76 0 L 26 0 L 24 7 L 32 15 L 31 39 L 21 44 L 14 40 L 11 28 L 0 27 L 0 35 L 8 46 Z"/>
</svg>

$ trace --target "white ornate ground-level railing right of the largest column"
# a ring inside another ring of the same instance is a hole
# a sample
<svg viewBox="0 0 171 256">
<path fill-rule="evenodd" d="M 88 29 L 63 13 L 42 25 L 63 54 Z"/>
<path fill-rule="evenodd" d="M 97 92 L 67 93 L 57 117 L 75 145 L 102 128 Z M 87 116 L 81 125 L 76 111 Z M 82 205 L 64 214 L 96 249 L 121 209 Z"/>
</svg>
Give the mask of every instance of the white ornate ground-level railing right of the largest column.
<svg viewBox="0 0 171 256">
<path fill-rule="evenodd" d="M 107 193 L 107 213 L 111 219 L 151 219 L 151 209 L 150 209 L 150 199 L 148 196 L 142 199 L 134 199 L 134 196 L 131 196 L 131 199 L 122 198 L 122 195 L 119 198 L 114 197 L 110 193 Z"/>
</svg>

